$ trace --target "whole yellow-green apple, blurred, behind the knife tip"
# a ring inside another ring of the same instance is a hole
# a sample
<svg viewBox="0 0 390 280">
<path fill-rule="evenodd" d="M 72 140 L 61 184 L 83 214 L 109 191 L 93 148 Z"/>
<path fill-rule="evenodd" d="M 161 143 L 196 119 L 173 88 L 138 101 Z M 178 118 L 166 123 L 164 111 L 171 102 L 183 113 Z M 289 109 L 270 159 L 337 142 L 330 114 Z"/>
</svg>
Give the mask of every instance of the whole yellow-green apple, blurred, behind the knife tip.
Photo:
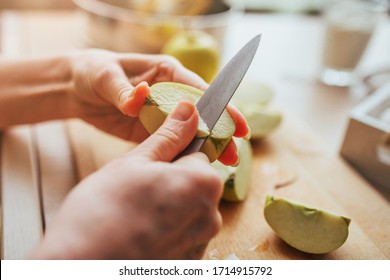
<svg viewBox="0 0 390 280">
<path fill-rule="evenodd" d="M 186 68 L 210 83 L 219 70 L 218 42 L 200 30 L 186 30 L 173 36 L 164 45 L 163 54 L 177 58 Z"/>
</svg>

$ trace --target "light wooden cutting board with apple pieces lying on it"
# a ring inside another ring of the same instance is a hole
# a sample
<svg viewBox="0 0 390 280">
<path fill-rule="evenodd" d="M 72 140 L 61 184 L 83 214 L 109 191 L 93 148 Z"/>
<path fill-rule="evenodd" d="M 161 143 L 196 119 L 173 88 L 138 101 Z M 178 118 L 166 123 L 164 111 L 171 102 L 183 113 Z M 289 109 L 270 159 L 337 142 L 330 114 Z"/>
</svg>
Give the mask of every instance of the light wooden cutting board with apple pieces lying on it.
<svg viewBox="0 0 390 280">
<path fill-rule="evenodd" d="M 136 146 L 80 121 L 67 124 L 80 178 Z M 80 133 L 82 132 L 82 133 Z M 324 152 L 299 122 L 286 117 L 265 140 L 253 142 L 254 162 L 248 199 L 221 202 L 221 231 L 205 259 L 389 259 L 390 204 L 337 155 Z M 302 253 L 279 239 L 265 222 L 267 194 L 284 196 L 347 216 L 350 234 L 339 249 L 322 255 Z"/>
</svg>

